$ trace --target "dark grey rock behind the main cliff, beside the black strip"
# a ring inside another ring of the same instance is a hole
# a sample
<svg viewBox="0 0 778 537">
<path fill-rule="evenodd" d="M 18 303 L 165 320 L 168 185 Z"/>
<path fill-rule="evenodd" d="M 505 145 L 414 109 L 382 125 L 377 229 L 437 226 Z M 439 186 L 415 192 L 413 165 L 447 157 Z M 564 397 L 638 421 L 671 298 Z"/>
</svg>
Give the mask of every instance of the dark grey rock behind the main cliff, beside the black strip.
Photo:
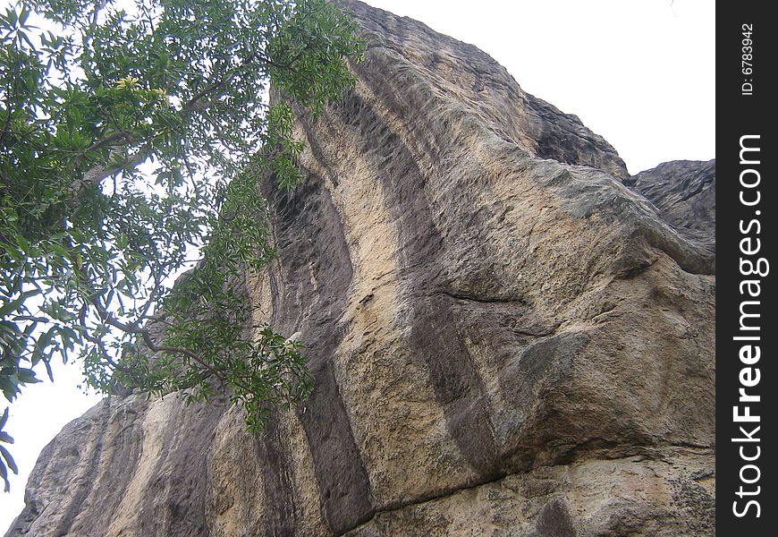
<svg viewBox="0 0 778 537">
<path fill-rule="evenodd" d="M 624 181 L 681 234 L 715 251 L 716 161 L 675 160 Z"/>
</svg>

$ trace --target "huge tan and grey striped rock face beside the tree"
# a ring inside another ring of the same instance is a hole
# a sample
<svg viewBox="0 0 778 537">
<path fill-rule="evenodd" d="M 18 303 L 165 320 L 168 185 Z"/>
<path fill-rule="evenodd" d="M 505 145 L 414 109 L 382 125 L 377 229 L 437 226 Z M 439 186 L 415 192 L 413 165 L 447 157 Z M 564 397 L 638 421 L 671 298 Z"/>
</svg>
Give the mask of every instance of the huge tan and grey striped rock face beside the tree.
<svg viewBox="0 0 778 537">
<path fill-rule="evenodd" d="M 713 535 L 715 254 L 664 221 L 678 190 L 630 190 L 477 48 L 348 5 L 358 86 L 300 119 L 247 281 L 313 396 L 258 438 L 221 401 L 108 398 L 7 535 Z"/>
</svg>

